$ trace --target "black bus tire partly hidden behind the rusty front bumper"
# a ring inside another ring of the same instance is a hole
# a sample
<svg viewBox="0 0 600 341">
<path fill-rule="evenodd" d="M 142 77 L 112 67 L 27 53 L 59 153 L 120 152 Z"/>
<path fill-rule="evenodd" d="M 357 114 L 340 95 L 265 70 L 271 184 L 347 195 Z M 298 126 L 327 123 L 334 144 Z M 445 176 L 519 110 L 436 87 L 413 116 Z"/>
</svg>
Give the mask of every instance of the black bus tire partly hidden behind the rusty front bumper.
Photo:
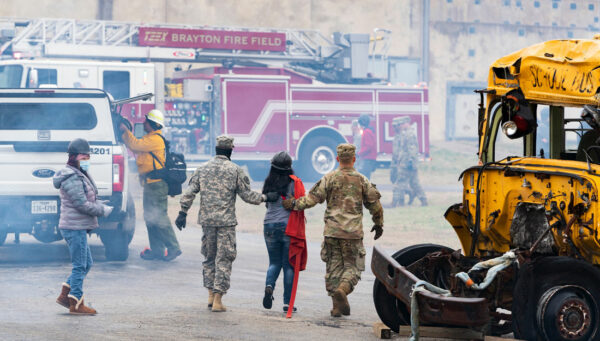
<svg viewBox="0 0 600 341">
<path fill-rule="evenodd" d="M 431 252 L 452 249 L 436 244 L 418 244 L 406 247 L 392 255 L 400 265 L 407 266 Z M 406 305 L 388 293 L 385 286 L 376 278 L 373 283 L 373 301 L 377 315 L 386 326 L 398 333 L 401 325 L 410 324 L 410 313 Z"/>
</svg>

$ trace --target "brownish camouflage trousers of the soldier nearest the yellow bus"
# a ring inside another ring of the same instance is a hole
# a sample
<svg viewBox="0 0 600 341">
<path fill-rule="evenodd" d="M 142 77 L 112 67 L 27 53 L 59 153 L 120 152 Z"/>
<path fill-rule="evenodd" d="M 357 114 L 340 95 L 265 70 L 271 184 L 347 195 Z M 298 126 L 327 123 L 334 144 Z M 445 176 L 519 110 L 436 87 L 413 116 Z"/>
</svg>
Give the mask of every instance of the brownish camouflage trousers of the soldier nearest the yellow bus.
<svg viewBox="0 0 600 341">
<path fill-rule="evenodd" d="M 347 282 L 354 290 L 365 270 L 365 255 L 362 239 L 325 237 L 321 245 L 321 260 L 326 264 L 325 289 L 329 296 L 342 282 Z"/>
</svg>

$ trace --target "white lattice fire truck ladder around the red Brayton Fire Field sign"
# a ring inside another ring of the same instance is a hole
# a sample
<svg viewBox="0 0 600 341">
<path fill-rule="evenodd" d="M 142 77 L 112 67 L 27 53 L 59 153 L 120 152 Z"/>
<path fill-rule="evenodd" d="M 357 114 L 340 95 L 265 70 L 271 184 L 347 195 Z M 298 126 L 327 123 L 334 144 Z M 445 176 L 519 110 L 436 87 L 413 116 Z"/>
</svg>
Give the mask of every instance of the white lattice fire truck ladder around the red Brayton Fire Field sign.
<svg viewBox="0 0 600 341">
<path fill-rule="evenodd" d="M 285 33 L 286 50 L 242 51 L 138 46 L 140 27 Z M 23 57 L 198 62 L 224 59 L 322 62 L 343 47 L 316 30 L 166 25 L 71 19 L 0 18 L 0 53 Z"/>
</svg>

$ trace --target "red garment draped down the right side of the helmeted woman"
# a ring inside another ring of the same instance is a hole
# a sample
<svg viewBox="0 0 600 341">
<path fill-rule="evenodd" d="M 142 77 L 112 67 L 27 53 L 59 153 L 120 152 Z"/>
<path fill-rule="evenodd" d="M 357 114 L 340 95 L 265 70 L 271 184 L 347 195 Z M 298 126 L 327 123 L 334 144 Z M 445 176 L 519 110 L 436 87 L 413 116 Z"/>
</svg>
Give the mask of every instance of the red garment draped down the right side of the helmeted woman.
<svg viewBox="0 0 600 341">
<path fill-rule="evenodd" d="M 296 199 L 303 197 L 305 190 L 302 180 L 294 175 L 290 175 L 290 178 L 294 180 L 294 197 Z M 296 271 L 302 271 L 306 269 L 308 251 L 306 249 L 306 234 L 304 232 L 305 228 L 306 220 L 304 218 L 304 211 L 290 212 L 290 218 L 288 220 L 288 226 L 285 229 L 285 234 L 290 236 L 290 265 L 295 268 L 296 257 L 300 257 L 300 266 L 299 269 L 295 269 Z"/>
</svg>

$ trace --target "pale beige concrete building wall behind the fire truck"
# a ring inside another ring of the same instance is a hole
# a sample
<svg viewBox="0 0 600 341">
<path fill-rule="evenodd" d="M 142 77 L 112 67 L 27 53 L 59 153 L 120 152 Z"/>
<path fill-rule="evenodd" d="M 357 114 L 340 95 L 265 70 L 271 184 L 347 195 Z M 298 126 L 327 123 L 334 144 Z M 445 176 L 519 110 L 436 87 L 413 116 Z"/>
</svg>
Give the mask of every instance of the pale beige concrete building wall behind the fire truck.
<svg viewBox="0 0 600 341">
<path fill-rule="evenodd" d="M 393 31 L 391 55 L 420 58 L 424 0 L 3 0 L 0 16 L 317 29 L 325 35 Z M 597 0 L 430 0 L 431 139 L 446 138 L 447 85 L 485 82 L 499 57 L 549 39 L 599 32 Z"/>
</svg>

